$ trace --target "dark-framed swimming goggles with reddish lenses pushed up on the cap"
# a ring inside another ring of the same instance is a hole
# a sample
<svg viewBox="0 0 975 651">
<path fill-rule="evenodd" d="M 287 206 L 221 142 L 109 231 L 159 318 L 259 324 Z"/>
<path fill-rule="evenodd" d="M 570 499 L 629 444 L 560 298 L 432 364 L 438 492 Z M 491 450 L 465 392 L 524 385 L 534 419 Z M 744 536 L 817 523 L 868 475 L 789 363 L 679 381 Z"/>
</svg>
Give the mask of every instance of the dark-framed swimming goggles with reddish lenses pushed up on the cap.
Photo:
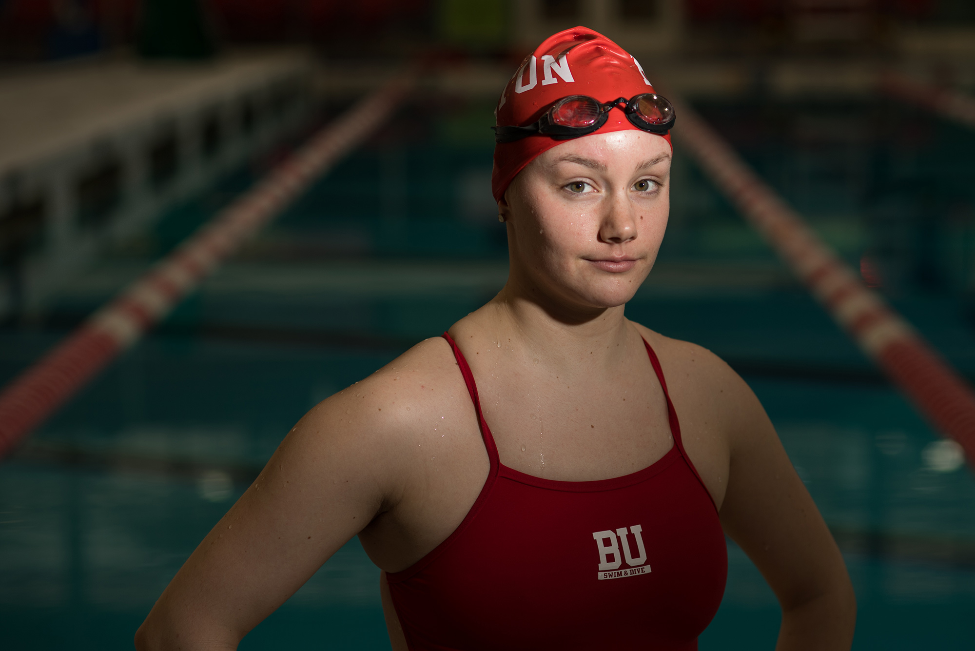
<svg viewBox="0 0 975 651">
<path fill-rule="evenodd" d="M 606 123 L 613 108 L 622 108 L 633 126 L 651 134 L 667 134 L 677 118 L 674 105 L 655 93 L 643 93 L 630 99 L 617 97 L 605 104 L 590 96 L 572 95 L 552 104 L 534 124 L 491 129 L 495 142 L 514 142 L 539 134 L 565 140 L 597 131 Z"/>
</svg>

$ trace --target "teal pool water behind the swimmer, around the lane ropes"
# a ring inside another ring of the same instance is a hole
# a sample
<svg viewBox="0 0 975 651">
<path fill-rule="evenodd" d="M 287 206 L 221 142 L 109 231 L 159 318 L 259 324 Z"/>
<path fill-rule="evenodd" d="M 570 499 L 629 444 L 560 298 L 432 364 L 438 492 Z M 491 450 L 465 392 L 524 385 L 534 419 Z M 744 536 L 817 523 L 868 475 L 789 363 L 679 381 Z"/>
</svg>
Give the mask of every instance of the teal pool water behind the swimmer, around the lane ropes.
<svg viewBox="0 0 975 651">
<path fill-rule="evenodd" d="M 784 104 L 748 124 L 740 106 L 702 108 L 847 259 L 874 256 L 888 279 L 880 290 L 975 373 L 960 271 L 972 229 L 971 188 L 957 181 L 972 172 L 967 134 L 922 120 L 913 149 L 891 152 L 884 138 L 916 114 Z M 485 200 L 489 132 L 475 129 L 489 114 L 457 105 L 417 122 L 425 127 L 411 139 L 367 143 L 0 465 L 4 648 L 128 647 L 294 421 L 503 284 L 503 230 Z M 870 137 L 859 134 L 872 120 Z M 935 181 L 924 165 L 939 155 L 957 161 Z M 756 391 L 845 555 L 860 607 L 854 648 L 971 648 L 972 473 L 932 463 L 938 439 L 911 405 L 728 210 L 679 141 L 677 159 L 668 240 L 628 315 L 707 346 Z M 107 251 L 41 325 L 0 330 L 0 379 L 259 172 L 241 171 Z M 902 178 L 920 189 L 914 208 L 892 211 L 890 188 Z M 939 212 L 929 212 L 933 235 L 921 246 L 925 206 Z M 932 267 L 925 247 L 947 252 Z M 377 581 L 350 541 L 242 648 L 388 649 Z M 729 543 L 722 609 L 701 648 L 771 649 L 778 618 L 761 575 Z"/>
</svg>

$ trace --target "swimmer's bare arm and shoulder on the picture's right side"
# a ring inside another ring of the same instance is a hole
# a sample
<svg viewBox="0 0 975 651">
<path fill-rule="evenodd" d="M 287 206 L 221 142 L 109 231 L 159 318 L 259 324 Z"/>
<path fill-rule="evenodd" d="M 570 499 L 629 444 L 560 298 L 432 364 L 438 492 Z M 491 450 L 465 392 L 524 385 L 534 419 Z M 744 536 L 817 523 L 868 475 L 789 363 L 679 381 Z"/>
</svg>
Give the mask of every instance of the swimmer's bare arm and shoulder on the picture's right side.
<svg viewBox="0 0 975 651">
<path fill-rule="evenodd" d="M 718 357 L 668 341 L 664 370 L 677 385 L 672 392 L 693 396 L 677 405 L 682 424 L 686 414 L 699 436 L 684 437 L 687 453 L 716 497 L 724 531 L 782 607 L 776 649 L 849 649 L 856 599 L 846 567 L 761 403 Z"/>
</svg>

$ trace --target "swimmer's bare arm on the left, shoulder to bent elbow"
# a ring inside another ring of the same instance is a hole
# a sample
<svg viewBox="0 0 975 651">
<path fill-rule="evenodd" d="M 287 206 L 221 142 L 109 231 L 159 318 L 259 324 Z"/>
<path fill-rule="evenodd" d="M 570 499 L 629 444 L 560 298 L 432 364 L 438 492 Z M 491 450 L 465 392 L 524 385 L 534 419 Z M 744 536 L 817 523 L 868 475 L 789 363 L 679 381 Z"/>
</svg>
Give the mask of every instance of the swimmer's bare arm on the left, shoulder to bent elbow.
<svg viewBox="0 0 975 651">
<path fill-rule="evenodd" d="M 412 404 L 415 421 L 417 404 L 429 400 L 412 395 L 419 373 L 387 367 L 305 415 L 176 574 L 137 648 L 237 648 L 373 517 L 395 508 L 415 466 L 402 407 Z"/>
</svg>

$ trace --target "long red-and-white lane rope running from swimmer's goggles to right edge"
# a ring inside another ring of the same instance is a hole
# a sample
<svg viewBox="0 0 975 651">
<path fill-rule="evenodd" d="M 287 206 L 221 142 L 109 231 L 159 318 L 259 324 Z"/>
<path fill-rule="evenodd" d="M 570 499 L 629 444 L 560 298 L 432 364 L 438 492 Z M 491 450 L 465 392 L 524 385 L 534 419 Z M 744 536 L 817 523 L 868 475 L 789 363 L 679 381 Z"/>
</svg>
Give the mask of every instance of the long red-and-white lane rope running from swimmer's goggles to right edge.
<svg viewBox="0 0 975 651">
<path fill-rule="evenodd" d="M 866 287 L 697 113 L 674 99 L 680 142 L 800 280 L 934 429 L 975 467 L 975 394 L 917 330 Z"/>
</svg>

